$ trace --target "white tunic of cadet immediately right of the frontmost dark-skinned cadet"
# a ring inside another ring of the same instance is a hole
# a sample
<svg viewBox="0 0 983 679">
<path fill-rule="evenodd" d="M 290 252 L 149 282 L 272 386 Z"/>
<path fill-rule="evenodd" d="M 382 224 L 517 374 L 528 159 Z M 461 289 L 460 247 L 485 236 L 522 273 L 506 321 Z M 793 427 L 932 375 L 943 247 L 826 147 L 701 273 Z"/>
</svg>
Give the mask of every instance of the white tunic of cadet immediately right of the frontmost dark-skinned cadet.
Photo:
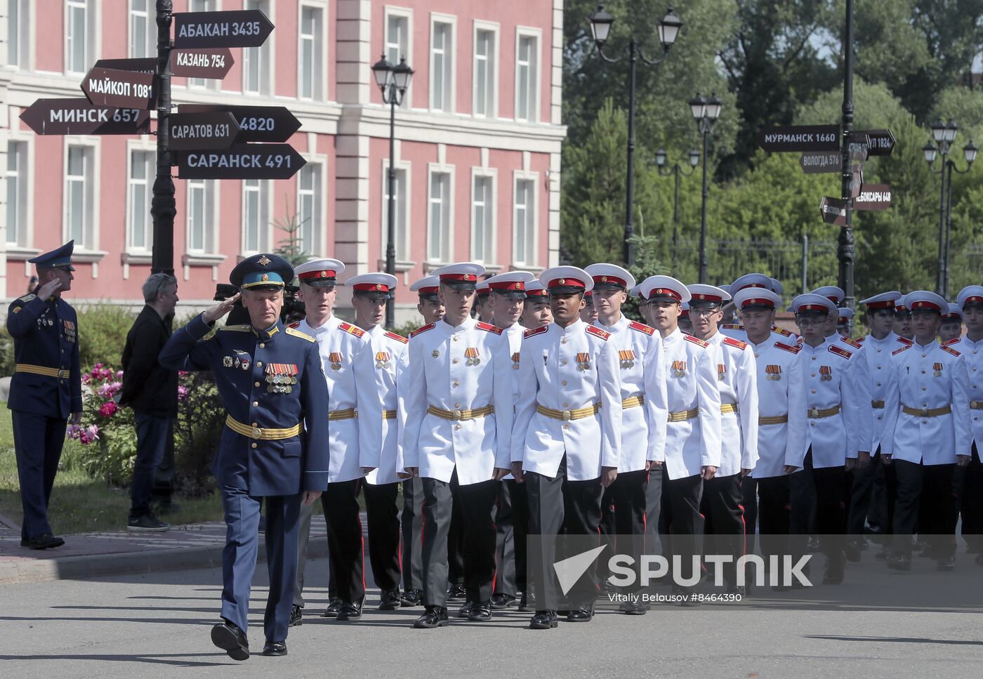
<svg viewBox="0 0 983 679">
<path fill-rule="evenodd" d="M 617 471 L 638 472 L 645 469 L 646 460 L 665 458 L 665 426 L 668 418 L 665 394 L 665 362 L 646 363 L 650 353 L 663 351 L 663 338 L 655 328 L 621 317 L 608 327 L 600 321 L 594 325 L 610 333 L 608 342 L 618 353 L 618 374 L 621 378 L 621 400 L 643 396 L 641 406 L 621 411 L 621 462 Z M 650 380 L 654 392 L 646 389 L 645 369 L 662 370 Z M 652 450 L 650 451 L 650 448 Z"/>
</svg>

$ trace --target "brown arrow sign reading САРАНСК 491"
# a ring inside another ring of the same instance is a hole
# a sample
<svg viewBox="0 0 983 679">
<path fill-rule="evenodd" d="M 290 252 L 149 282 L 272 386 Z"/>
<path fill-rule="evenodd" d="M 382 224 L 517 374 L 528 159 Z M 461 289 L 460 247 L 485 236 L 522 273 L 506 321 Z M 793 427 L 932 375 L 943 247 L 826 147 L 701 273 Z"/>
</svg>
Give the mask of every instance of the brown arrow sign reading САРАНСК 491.
<svg viewBox="0 0 983 679">
<path fill-rule="evenodd" d="M 181 179 L 289 179 L 307 163 L 289 143 L 237 143 L 177 156 Z"/>
</svg>

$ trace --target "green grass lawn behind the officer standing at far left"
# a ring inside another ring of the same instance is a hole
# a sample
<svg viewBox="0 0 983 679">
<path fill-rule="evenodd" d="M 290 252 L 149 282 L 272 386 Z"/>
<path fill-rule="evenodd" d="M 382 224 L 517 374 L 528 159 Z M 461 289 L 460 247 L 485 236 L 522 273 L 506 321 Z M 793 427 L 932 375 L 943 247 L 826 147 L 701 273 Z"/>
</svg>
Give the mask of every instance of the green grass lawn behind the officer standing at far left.
<svg viewBox="0 0 983 679">
<path fill-rule="evenodd" d="M 0 402 L 0 514 L 20 523 L 23 510 L 10 416 L 7 404 Z M 65 441 L 48 508 L 52 530 L 55 535 L 126 530 L 130 512 L 129 488 L 117 488 L 92 479 L 85 470 L 73 465 L 72 452 L 79 445 L 74 440 Z M 177 497 L 176 500 L 181 510 L 164 518 L 172 526 L 222 518 L 217 493 L 204 498 Z"/>
</svg>

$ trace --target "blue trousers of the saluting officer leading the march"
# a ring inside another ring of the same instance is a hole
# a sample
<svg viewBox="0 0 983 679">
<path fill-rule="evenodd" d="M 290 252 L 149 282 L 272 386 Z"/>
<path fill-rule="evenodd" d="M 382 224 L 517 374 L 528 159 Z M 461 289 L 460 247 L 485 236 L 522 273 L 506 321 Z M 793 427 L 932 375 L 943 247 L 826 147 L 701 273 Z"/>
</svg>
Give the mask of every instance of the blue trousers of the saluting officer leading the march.
<svg viewBox="0 0 983 679">
<path fill-rule="evenodd" d="M 225 548 L 222 550 L 222 617 L 246 631 L 250 585 L 260 546 L 260 498 L 243 488 L 221 487 L 225 512 Z M 269 596 L 263 615 L 267 642 L 282 642 L 290 626 L 294 578 L 297 574 L 297 537 L 300 495 L 277 495 L 266 502 L 266 571 Z"/>
</svg>

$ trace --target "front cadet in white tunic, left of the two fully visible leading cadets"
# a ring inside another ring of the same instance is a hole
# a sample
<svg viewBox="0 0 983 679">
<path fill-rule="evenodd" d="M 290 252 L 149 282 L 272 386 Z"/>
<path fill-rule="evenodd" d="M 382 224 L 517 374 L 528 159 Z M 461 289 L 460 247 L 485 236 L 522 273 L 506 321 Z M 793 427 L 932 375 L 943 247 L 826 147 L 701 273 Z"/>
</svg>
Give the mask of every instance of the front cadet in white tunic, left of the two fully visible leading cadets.
<svg viewBox="0 0 983 679">
<path fill-rule="evenodd" d="M 471 317 L 481 264 L 449 264 L 440 279 L 443 319 L 410 335 L 403 463 L 424 486 L 424 603 L 415 623 L 447 623 L 447 533 L 451 479 L 464 518 L 464 587 L 468 619 L 492 618 L 495 531 L 492 506 L 509 471 L 512 359 L 508 338 Z"/>
</svg>

